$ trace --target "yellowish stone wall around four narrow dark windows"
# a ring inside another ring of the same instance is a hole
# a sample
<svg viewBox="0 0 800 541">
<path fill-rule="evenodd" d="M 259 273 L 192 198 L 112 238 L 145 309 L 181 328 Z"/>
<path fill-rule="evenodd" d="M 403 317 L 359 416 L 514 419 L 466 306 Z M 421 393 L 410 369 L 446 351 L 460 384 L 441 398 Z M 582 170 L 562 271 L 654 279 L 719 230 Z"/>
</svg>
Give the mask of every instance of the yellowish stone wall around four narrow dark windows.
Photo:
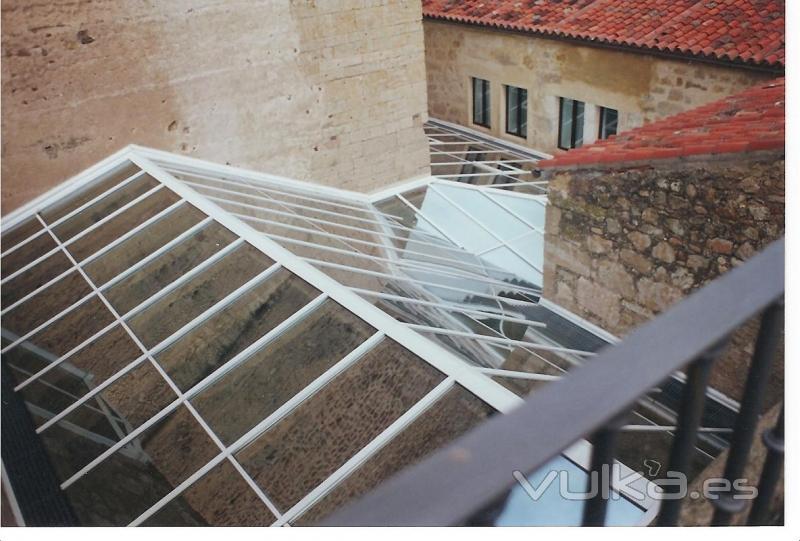
<svg viewBox="0 0 800 541">
<path fill-rule="evenodd" d="M 734 94 L 767 74 L 691 60 L 589 47 L 426 19 L 431 117 L 557 153 L 559 97 L 587 104 L 586 143 L 599 131 L 599 106 L 619 111 L 619 131 Z M 491 82 L 491 128 L 472 124 L 472 77 Z M 528 137 L 505 133 L 503 85 L 528 90 Z"/>
</svg>

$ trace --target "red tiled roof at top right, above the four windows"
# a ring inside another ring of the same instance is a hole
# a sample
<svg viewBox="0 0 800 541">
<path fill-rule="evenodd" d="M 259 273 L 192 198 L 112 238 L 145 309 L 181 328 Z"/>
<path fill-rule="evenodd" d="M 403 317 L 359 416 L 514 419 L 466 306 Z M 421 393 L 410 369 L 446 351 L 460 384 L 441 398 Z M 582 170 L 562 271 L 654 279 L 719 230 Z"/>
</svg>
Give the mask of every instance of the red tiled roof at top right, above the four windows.
<svg viewBox="0 0 800 541">
<path fill-rule="evenodd" d="M 783 66 L 784 0 L 422 0 L 428 18 Z"/>
</svg>

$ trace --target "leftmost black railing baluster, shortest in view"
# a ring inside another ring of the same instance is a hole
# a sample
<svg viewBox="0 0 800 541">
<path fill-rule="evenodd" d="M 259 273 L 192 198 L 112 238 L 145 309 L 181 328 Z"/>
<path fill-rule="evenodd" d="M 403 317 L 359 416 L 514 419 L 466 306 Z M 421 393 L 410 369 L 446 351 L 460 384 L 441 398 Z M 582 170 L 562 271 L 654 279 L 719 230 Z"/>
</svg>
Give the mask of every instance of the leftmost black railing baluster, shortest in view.
<svg viewBox="0 0 800 541">
<path fill-rule="evenodd" d="M 606 510 L 611 497 L 611 468 L 617 436 L 624 420 L 624 417 L 617 417 L 595 434 L 586 490 L 590 492 L 596 489 L 597 492 L 583 506 L 583 526 L 604 526 L 606 523 Z M 596 486 L 593 486 L 594 481 L 597 482 Z"/>
</svg>

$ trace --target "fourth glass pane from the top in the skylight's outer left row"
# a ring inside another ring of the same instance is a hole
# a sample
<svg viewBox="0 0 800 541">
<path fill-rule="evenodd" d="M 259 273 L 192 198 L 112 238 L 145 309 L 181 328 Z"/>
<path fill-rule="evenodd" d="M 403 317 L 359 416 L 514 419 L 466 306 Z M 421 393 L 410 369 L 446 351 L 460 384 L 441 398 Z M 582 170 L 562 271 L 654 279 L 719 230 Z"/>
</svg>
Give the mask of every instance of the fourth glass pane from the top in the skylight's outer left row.
<svg viewBox="0 0 800 541">
<path fill-rule="evenodd" d="M 23 336 L 91 292 L 77 271 L 68 274 L 3 315 L 3 331 Z"/>
</svg>

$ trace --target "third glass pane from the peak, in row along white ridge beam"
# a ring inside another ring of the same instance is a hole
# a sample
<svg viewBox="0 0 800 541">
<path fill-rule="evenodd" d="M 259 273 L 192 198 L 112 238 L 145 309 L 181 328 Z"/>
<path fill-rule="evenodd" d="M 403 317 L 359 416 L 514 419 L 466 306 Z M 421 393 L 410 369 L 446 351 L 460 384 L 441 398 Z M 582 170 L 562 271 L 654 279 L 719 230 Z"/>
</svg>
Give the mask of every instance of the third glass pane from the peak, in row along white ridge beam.
<svg viewBox="0 0 800 541">
<path fill-rule="evenodd" d="M 117 240 L 142 222 L 178 201 L 178 195 L 166 188 L 139 201 L 105 224 L 70 244 L 67 249 L 77 261 L 83 261 L 105 245 Z M 63 240 L 63 239 L 62 239 Z"/>
</svg>

